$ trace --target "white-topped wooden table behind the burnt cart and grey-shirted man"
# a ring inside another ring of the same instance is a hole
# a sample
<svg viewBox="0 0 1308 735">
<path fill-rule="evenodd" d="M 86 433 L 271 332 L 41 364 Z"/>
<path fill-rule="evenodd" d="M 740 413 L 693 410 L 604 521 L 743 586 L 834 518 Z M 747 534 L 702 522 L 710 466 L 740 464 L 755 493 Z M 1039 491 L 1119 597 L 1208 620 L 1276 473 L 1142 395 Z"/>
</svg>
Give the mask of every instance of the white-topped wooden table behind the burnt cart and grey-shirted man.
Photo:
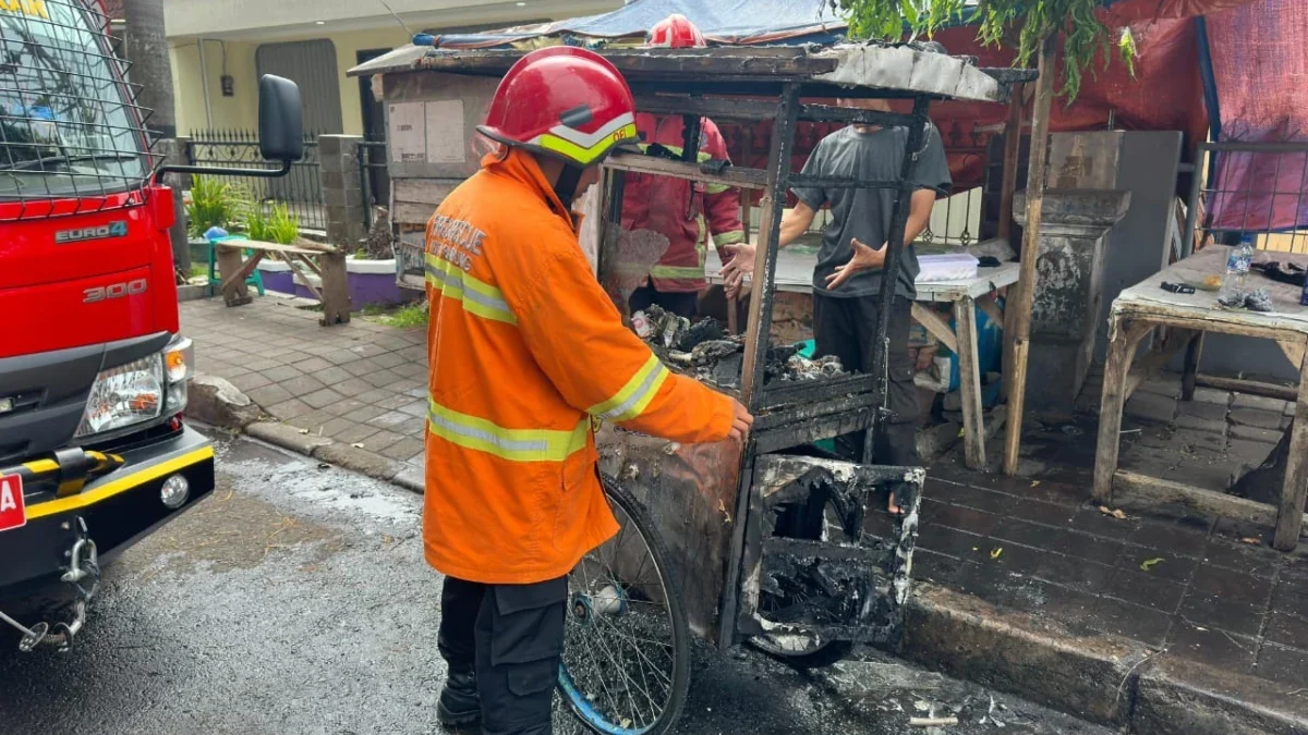
<svg viewBox="0 0 1308 735">
<path fill-rule="evenodd" d="M 811 250 L 785 248 L 777 254 L 777 290 L 812 293 L 814 268 L 818 255 Z M 963 447 L 967 466 L 985 468 L 985 412 L 981 408 L 981 369 L 977 356 L 976 309 L 981 307 L 997 324 L 1003 323 L 1003 313 L 994 294 L 998 289 L 1018 282 L 1018 263 L 1003 263 L 995 268 L 980 268 L 976 277 L 963 281 L 917 282 L 913 319 L 927 332 L 959 356 L 959 392 L 963 398 Z M 709 282 L 722 282 L 718 255 L 709 248 L 705 271 Z M 923 303 L 952 303 L 955 328 Z"/>
</svg>

